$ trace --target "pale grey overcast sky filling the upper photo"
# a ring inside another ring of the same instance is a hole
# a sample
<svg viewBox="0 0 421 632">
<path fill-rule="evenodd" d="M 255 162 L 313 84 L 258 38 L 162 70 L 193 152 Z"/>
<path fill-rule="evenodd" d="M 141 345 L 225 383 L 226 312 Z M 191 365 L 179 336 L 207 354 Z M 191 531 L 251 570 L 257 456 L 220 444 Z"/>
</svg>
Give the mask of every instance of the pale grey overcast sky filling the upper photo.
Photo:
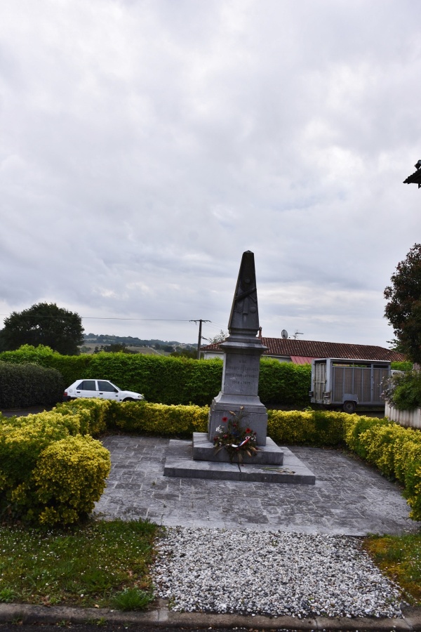
<svg viewBox="0 0 421 632">
<path fill-rule="evenodd" d="M 2 0 L 0 312 L 191 343 L 251 250 L 264 336 L 386 346 L 420 104 L 419 0 Z"/>
</svg>

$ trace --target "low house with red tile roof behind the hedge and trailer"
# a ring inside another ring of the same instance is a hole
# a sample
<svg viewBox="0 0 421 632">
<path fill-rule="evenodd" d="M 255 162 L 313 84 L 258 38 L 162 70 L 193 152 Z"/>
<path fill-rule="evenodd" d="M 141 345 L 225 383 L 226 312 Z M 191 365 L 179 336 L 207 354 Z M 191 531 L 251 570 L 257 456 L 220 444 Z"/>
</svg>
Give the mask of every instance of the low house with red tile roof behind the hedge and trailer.
<svg viewBox="0 0 421 632">
<path fill-rule="evenodd" d="M 260 338 L 267 347 L 262 357 L 273 358 L 279 362 L 310 364 L 317 357 L 349 358 L 350 360 L 386 360 L 403 362 L 402 353 L 375 345 L 352 345 L 348 343 L 328 343 L 316 340 L 295 340 L 293 338 Z M 201 357 L 223 357 L 219 343 L 201 347 Z"/>
</svg>

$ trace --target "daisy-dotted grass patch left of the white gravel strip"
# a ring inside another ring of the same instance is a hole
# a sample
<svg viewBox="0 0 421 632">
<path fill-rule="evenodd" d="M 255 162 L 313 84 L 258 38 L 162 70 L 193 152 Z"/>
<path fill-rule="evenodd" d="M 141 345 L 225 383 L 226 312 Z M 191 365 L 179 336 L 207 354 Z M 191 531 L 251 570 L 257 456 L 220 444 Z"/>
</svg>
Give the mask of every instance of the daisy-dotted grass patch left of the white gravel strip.
<svg viewBox="0 0 421 632">
<path fill-rule="evenodd" d="M 157 529 L 141 520 L 49 531 L 1 526 L 0 602 L 145 607 Z"/>
</svg>

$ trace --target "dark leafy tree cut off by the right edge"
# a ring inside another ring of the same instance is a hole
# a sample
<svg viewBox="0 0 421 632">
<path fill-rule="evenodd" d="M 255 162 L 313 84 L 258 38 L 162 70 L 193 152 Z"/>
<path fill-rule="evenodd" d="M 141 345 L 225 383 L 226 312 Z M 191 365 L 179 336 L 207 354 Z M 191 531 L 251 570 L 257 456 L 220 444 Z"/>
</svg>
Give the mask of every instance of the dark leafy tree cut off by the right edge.
<svg viewBox="0 0 421 632">
<path fill-rule="evenodd" d="M 385 316 L 403 353 L 421 363 L 421 244 L 413 245 L 390 280 Z"/>
</svg>

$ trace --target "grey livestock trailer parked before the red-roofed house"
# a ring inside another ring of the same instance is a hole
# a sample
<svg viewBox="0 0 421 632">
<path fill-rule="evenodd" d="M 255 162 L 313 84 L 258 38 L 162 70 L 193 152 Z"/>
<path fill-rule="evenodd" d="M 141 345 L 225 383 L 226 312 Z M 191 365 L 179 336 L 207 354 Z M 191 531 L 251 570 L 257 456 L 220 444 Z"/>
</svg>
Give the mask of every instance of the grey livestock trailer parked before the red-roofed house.
<svg viewBox="0 0 421 632">
<path fill-rule="evenodd" d="M 390 362 L 321 357 L 312 361 L 309 397 L 314 404 L 341 406 L 348 413 L 357 406 L 384 406 L 382 383 L 389 376 Z"/>
</svg>

